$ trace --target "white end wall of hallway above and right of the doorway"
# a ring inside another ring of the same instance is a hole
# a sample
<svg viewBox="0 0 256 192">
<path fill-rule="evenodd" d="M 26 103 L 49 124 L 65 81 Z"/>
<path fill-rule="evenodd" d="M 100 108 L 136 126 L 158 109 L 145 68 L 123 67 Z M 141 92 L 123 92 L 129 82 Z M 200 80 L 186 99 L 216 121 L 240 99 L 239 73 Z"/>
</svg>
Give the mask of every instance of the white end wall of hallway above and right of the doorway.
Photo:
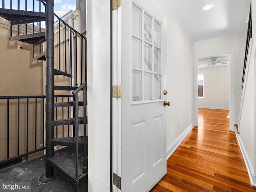
<svg viewBox="0 0 256 192">
<path fill-rule="evenodd" d="M 229 38 L 215 42 L 198 44 L 194 46 L 194 57 L 203 58 L 212 55 L 221 55 L 234 52 L 234 118 L 238 119 L 242 89 L 237 88 L 242 84 L 246 36 Z"/>
</svg>

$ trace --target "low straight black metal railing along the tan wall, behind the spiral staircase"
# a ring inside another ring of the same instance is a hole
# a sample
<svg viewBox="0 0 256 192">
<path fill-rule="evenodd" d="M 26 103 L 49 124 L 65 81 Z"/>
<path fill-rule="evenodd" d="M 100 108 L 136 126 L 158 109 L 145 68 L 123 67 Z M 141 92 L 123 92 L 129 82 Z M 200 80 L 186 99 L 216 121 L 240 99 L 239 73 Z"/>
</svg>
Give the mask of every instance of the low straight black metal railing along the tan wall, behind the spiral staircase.
<svg viewBox="0 0 256 192">
<path fill-rule="evenodd" d="M 74 96 L 54 97 L 57 102 L 62 102 L 69 101 Z M 46 96 L 0 96 L 0 164 L 45 149 L 45 98 Z M 62 117 L 70 116 L 69 108 L 60 107 L 59 110 L 62 111 Z M 62 127 L 62 137 L 64 134 L 70 136 L 69 133 L 69 126 L 67 131 Z M 58 137 L 57 129 L 55 135 Z"/>
</svg>

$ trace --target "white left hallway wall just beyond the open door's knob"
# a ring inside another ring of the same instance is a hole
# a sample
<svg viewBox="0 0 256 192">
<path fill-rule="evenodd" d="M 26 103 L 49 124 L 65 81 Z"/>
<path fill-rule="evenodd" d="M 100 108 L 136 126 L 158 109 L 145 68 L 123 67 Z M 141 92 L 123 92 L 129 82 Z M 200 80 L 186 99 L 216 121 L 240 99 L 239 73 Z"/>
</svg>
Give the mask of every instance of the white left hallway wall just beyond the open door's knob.
<svg viewBox="0 0 256 192">
<path fill-rule="evenodd" d="M 193 126 L 193 45 L 165 1 L 154 1 L 167 18 L 167 156 Z M 179 125 L 181 118 L 181 125 Z"/>
</svg>

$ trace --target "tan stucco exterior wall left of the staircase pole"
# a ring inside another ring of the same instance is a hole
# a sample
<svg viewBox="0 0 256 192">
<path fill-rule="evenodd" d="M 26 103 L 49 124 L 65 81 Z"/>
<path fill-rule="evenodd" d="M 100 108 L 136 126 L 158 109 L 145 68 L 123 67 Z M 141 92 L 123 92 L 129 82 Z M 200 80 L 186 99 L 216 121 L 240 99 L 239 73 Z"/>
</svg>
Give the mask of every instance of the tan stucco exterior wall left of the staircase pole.
<svg viewBox="0 0 256 192">
<path fill-rule="evenodd" d="M 32 45 L 20 41 L 9 41 L 9 22 L 0 18 L 0 96 L 43 95 L 43 62 L 32 62 Z M 7 23 L 7 26 L 5 24 Z M 15 34 L 14 32 L 13 34 Z M 18 45 L 22 49 L 18 49 Z M 20 154 L 26 152 L 26 99 L 20 99 Z M 18 101 L 10 100 L 10 157 L 17 155 Z M 42 108 L 43 100 L 37 105 L 37 148 L 42 144 Z M 28 150 L 34 150 L 35 100 L 29 100 L 28 113 Z M 7 100 L 0 100 L 0 160 L 7 155 Z M 33 155 L 31 155 L 33 156 Z"/>
</svg>

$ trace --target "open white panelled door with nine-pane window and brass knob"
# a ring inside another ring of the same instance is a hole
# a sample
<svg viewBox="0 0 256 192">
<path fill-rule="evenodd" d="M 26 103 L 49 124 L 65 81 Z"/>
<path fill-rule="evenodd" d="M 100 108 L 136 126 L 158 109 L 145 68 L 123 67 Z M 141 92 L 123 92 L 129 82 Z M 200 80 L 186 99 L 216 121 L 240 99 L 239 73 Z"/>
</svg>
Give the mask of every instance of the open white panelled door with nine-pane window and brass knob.
<svg viewBox="0 0 256 192">
<path fill-rule="evenodd" d="M 151 1 L 121 4 L 121 190 L 150 190 L 166 174 L 166 21 Z"/>
</svg>

